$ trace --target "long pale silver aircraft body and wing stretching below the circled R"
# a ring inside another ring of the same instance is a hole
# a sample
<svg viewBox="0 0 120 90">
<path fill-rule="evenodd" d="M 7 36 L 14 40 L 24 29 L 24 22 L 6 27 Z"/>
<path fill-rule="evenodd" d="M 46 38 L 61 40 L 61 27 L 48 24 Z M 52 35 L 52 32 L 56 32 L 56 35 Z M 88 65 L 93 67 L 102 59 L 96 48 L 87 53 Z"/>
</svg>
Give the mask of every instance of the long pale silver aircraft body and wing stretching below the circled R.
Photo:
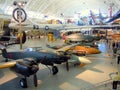
<svg viewBox="0 0 120 90">
<path fill-rule="evenodd" d="M 10 28 L 15 28 L 18 29 L 20 28 L 19 24 L 16 23 L 11 23 L 9 24 Z M 105 29 L 109 29 L 109 28 L 115 28 L 115 27 L 119 27 L 119 25 L 111 25 L 111 24 L 106 24 L 106 25 L 84 25 L 84 26 L 78 26 L 78 25 L 69 25 L 69 24 L 22 24 L 21 28 L 23 30 L 49 30 L 49 29 L 53 29 L 53 30 L 70 30 L 70 29 L 82 29 L 82 28 L 105 28 Z"/>
</svg>

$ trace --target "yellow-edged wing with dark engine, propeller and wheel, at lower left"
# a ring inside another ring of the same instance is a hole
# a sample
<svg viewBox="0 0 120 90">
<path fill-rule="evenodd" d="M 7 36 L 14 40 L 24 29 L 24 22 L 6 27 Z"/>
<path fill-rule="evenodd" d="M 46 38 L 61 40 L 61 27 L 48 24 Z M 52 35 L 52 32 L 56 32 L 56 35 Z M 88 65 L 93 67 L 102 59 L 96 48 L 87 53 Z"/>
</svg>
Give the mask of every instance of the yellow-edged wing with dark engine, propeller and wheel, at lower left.
<svg viewBox="0 0 120 90">
<path fill-rule="evenodd" d="M 34 59 L 26 58 L 19 59 L 16 61 L 3 62 L 0 63 L 0 69 L 3 68 L 11 68 L 12 71 L 23 75 L 25 78 L 33 75 L 34 86 L 37 87 L 37 71 L 39 70 L 39 66 Z M 20 80 L 20 86 L 23 88 L 27 88 L 27 80 L 23 81 L 23 78 Z"/>
</svg>

